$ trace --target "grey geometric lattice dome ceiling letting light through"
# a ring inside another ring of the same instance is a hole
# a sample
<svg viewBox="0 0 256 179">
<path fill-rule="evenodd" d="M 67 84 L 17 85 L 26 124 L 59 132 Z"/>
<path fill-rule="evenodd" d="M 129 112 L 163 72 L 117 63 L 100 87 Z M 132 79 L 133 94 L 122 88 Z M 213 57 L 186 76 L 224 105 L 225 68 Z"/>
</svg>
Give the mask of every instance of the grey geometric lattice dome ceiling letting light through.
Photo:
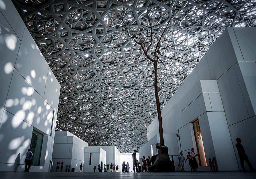
<svg viewBox="0 0 256 179">
<path fill-rule="evenodd" d="M 156 116 L 153 65 L 129 31 L 147 26 L 145 14 L 170 42 L 167 68 L 159 65 L 161 107 L 229 26 L 255 26 L 256 0 L 12 0 L 61 85 L 56 130 L 91 146 L 131 152 L 147 141 Z M 122 16 L 123 20 L 122 21 Z"/>
</svg>

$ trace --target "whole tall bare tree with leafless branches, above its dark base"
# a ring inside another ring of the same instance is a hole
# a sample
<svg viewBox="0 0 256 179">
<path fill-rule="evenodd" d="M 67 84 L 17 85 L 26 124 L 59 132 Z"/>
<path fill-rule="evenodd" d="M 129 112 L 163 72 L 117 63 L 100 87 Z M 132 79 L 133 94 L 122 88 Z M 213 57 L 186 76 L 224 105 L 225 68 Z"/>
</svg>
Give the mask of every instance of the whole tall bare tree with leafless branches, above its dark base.
<svg viewBox="0 0 256 179">
<path fill-rule="evenodd" d="M 172 31 L 170 24 L 172 23 L 174 16 L 180 10 L 177 9 L 176 1 L 173 1 L 171 4 L 174 10 L 169 12 L 166 11 L 165 13 L 158 12 L 154 8 L 149 8 L 150 1 L 148 2 L 149 3 L 147 3 L 147 10 L 138 14 L 147 21 L 146 24 L 138 24 L 137 21 L 132 20 L 129 21 L 129 19 L 132 19 L 132 17 L 131 15 L 123 14 L 123 5 L 121 15 L 127 35 L 134 40 L 134 42 L 140 47 L 140 50 L 143 52 L 146 58 L 153 63 L 154 68 L 151 71 L 152 74 L 148 77 L 151 77 L 154 82 L 160 145 L 164 146 L 164 134 L 159 92 L 164 87 L 168 79 L 161 79 L 161 74 L 158 74 L 158 68 L 159 65 L 162 65 L 164 66 L 166 71 L 168 71 L 168 67 L 171 66 L 173 63 L 183 63 L 178 59 L 170 58 L 170 55 L 166 55 L 168 54 L 167 52 L 171 49 L 170 47 L 172 47 L 172 45 L 174 44 L 174 42 L 170 38 L 166 38 L 166 36 L 171 36 Z M 163 21 L 165 21 L 164 25 Z M 178 75 L 179 74 L 173 76 Z"/>
</svg>

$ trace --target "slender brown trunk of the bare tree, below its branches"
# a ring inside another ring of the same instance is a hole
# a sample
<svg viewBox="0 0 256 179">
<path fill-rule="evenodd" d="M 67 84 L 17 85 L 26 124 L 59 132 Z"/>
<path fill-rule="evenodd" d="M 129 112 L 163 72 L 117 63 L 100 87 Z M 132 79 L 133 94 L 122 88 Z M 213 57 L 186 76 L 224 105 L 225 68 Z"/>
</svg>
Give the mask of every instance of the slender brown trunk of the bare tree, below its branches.
<svg viewBox="0 0 256 179">
<path fill-rule="evenodd" d="M 155 78 L 154 78 L 154 87 L 155 87 L 155 96 L 156 96 L 156 109 L 157 109 L 157 116 L 158 116 L 158 125 L 159 125 L 159 138 L 160 144 L 164 146 L 164 132 L 163 132 L 163 124 L 162 124 L 162 115 L 161 115 L 161 107 L 160 101 L 158 96 L 158 89 L 157 89 L 157 61 L 154 62 L 154 71 L 155 71 Z"/>
</svg>

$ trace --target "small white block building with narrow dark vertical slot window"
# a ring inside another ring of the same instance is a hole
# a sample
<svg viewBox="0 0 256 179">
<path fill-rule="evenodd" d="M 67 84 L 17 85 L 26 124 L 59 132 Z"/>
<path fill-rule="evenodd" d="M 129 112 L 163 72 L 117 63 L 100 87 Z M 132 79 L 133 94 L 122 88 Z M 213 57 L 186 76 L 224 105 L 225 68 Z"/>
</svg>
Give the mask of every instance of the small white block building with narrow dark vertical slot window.
<svg viewBox="0 0 256 179">
<path fill-rule="evenodd" d="M 94 172 L 93 166 L 96 165 L 98 172 L 98 165 L 104 172 L 103 166 L 106 163 L 106 151 L 101 147 L 87 147 L 84 149 L 84 167 L 83 172 Z"/>
</svg>

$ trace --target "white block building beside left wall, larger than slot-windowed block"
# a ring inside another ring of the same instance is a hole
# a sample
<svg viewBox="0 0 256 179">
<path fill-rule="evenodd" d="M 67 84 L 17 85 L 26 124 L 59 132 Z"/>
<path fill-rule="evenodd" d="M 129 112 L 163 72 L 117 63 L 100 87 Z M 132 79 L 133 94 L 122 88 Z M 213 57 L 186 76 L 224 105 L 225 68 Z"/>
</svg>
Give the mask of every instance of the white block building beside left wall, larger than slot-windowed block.
<svg viewBox="0 0 256 179">
<path fill-rule="evenodd" d="M 79 172 L 79 166 L 84 160 L 84 149 L 88 144 L 80 138 L 74 136 L 68 131 L 56 131 L 52 152 L 53 168 L 56 171 L 57 162 L 63 161 L 63 170 L 66 171 L 66 165 L 70 166 L 70 171 Z M 60 165 L 59 165 L 60 166 Z M 59 170 L 60 172 L 60 170 Z"/>
</svg>

